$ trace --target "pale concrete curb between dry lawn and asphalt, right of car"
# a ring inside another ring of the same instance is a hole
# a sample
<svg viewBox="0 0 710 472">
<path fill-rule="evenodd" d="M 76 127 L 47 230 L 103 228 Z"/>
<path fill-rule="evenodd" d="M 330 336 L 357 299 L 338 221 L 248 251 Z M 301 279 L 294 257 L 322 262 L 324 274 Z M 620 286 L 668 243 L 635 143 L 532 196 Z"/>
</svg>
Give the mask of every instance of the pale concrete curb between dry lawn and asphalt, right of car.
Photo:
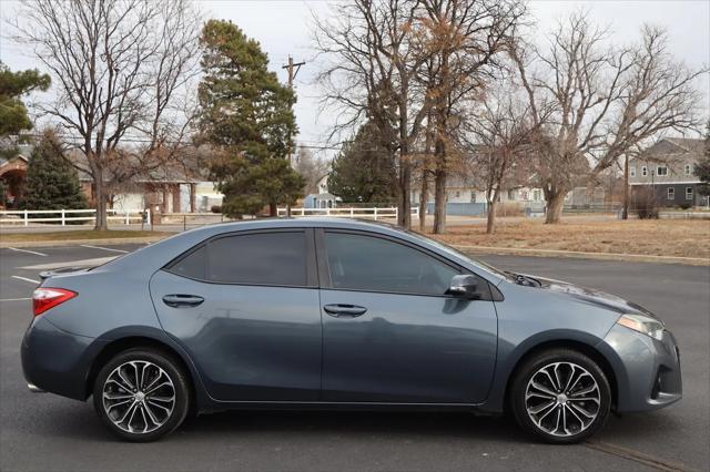
<svg viewBox="0 0 710 472">
<path fill-rule="evenodd" d="M 680 256 L 650 256 L 646 254 L 585 253 L 581 250 L 530 249 L 521 247 L 458 246 L 454 248 L 467 254 L 495 254 L 499 256 L 568 257 L 595 260 L 622 260 L 627 263 L 682 264 L 710 266 L 710 258 Z"/>
</svg>

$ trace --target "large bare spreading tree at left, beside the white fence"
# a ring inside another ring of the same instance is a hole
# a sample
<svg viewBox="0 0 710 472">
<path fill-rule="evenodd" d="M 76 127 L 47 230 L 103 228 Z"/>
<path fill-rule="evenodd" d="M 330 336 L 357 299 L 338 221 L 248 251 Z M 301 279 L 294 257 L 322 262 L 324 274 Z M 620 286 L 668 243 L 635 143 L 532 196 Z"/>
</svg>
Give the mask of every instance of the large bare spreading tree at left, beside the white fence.
<svg viewBox="0 0 710 472">
<path fill-rule="evenodd" d="M 176 106 L 196 73 L 200 14 L 190 0 L 24 0 L 17 18 L 16 40 L 59 85 L 42 111 L 79 137 L 105 229 L 106 178 L 159 167 L 186 130 Z"/>
</svg>

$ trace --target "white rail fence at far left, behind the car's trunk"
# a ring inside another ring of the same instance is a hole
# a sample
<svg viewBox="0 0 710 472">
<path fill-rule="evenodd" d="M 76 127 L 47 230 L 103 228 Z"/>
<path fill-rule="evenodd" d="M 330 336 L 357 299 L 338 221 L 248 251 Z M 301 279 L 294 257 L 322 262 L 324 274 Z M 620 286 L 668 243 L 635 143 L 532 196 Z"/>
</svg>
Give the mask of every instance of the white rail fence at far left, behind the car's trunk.
<svg viewBox="0 0 710 472">
<path fill-rule="evenodd" d="M 44 216 L 47 215 L 47 216 Z M 145 220 L 143 220 L 145 215 Z M 65 226 L 69 222 L 95 222 L 95 209 L 19 209 L 0 211 L 0 224 L 21 224 L 29 226 L 30 223 L 61 223 Z M 151 213 L 141 209 L 106 209 L 109 222 L 119 222 L 124 225 L 151 224 Z"/>
</svg>

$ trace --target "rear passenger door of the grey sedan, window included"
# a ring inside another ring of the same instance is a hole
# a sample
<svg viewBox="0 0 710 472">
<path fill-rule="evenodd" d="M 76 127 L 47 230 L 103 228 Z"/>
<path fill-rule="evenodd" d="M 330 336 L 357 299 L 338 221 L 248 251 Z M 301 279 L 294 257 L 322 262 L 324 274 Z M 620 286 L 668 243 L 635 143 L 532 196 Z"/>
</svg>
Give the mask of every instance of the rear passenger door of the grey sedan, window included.
<svg viewBox="0 0 710 472">
<path fill-rule="evenodd" d="M 156 273 L 163 329 L 224 401 L 314 401 L 321 314 L 312 229 L 242 232 L 194 247 Z"/>
</svg>

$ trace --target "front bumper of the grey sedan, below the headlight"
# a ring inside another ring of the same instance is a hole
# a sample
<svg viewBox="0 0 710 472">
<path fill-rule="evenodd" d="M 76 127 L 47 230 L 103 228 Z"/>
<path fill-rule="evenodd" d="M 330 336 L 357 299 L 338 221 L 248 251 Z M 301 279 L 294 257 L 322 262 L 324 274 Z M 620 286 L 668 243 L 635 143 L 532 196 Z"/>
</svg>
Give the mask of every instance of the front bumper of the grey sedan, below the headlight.
<svg viewBox="0 0 710 472">
<path fill-rule="evenodd" d="M 615 371 L 618 412 L 656 410 L 682 398 L 680 351 L 670 331 L 659 341 L 616 325 L 597 348 Z"/>
</svg>

